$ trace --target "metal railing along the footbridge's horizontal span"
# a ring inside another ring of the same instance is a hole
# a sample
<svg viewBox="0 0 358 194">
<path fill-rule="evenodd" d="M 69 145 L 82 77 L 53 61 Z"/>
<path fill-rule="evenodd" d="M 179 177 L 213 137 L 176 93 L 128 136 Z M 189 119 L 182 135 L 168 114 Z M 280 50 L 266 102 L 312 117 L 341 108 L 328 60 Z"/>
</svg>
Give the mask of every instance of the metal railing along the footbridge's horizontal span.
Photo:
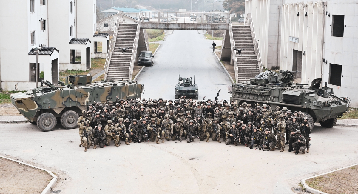
<svg viewBox="0 0 358 194">
<path fill-rule="evenodd" d="M 161 16 L 162 15 L 162 16 Z M 190 17 L 193 15 L 193 17 Z M 195 15 L 195 21 L 194 21 Z M 169 21 L 168 18 L 175 21 Z M 220 19 L 215 23 L 229 23 L 231 21 L 230 13 L 207 13 L 207 12 L 158 12 L 158 11 L 141 11 L 139 14 L 139 20 L 141 22 L 159 22 L 159 23 L 214 23 L 215 18 Z M 167 19 L 166 21 L 161 21 Z M 192 19 L 192 21 L 190 21 Z M 224 20 L 223 20 L 224 19 Z"/>
</svg>

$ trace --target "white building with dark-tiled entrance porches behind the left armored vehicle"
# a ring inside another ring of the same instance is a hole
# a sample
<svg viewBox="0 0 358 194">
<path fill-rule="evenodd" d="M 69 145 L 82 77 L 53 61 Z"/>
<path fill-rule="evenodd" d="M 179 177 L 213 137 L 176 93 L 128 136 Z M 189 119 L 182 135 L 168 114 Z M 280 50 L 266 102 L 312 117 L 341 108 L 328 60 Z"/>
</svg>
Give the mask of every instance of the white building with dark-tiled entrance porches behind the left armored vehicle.
<svg viewBox="0 0 358 194">
<path fill-rule="evenodd" d="M 14 7 L 18 11 L 11 9 Z M 43 79 L 53 84 L 58 84 L 59 70 L 88 69 L 91 63 L 87 56 L 91 56 L 95 29 L 95 0 L 0 1 L 1 89 L 14 90 L 15 84 L 19 90 L 35 87 L 34 47 L 39 47 L 39 71 L 44 72 Z M 70 44 L 72 39 L 83 38 L 88 43 L 81 51 Z M 71 64 L 71 53 L 75 53 L 72 59 L 81 56 L 82 65 Z"/>
</svg>

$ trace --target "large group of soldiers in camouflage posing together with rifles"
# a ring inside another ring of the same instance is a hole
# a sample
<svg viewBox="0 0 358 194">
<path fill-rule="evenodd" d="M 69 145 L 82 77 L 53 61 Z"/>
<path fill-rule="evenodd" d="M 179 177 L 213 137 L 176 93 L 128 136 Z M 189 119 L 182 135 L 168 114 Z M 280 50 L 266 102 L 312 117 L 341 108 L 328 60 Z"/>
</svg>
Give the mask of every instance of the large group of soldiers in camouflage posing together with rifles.
<svg viewBox="0 0 358 194">
<path fill-rule="evenodd" d="M 225 144 L 256 144 L 258 149 L 309 152 L 310 133 L 313 129 L 312 117 L 308 113 L 293 112 L 286 107 L 242 103 L 234 101 L 194 101 L 181 97 L 179 100 L 152 99 L 109 99 L 103 105 L 95 102 L 82 111 L 78 118 L 80 147 L 93 149 L 109 146 L 114 141 L 120 146 L 155 141 L 157 144 L 165 140 L 194 142 L 217 141 Z M 286 142 L 285 142 L 286 140 Z M 92 145 L 93 142 L 93 145 Z M 277 148 L 276 148 L 277 147 Z"/>
</svg>

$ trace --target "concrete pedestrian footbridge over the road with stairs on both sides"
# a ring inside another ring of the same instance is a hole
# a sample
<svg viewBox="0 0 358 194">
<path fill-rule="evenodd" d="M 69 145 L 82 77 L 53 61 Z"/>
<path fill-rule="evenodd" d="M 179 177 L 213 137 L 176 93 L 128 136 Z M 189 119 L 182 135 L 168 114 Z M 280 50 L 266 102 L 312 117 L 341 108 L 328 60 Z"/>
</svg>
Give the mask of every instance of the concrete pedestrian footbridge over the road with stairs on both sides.
<svg viewBox="0 0 358 194">
<path fill-rule="evenodd" d="M 235 81 L 247 81 L 263 71 L 250 14 L 245 25 L 232 25 L 229 13 L 140 12 L 137 24 L 126 24 L 119 12 L 106 58 L 105 79 L 132 80 L 140 52 L 149 50 L 146 29 L 225 30 L 220 60 L 234 65 Z M 237 55 L 237 49 L 245 50 Z"/>
</svg>

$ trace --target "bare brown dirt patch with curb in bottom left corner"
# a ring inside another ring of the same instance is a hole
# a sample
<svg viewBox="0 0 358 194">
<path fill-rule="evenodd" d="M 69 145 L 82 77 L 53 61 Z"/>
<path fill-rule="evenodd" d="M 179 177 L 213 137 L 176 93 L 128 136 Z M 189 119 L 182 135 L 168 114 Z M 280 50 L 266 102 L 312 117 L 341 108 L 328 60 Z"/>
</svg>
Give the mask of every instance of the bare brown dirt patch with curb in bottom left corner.
<svg viewBox="0 0 358 194">
<path fill-rule="evenodd" d="M 43 170 L 0 158 L 0 194 L 41 193 L 51 179 Z"/>
</svg>

